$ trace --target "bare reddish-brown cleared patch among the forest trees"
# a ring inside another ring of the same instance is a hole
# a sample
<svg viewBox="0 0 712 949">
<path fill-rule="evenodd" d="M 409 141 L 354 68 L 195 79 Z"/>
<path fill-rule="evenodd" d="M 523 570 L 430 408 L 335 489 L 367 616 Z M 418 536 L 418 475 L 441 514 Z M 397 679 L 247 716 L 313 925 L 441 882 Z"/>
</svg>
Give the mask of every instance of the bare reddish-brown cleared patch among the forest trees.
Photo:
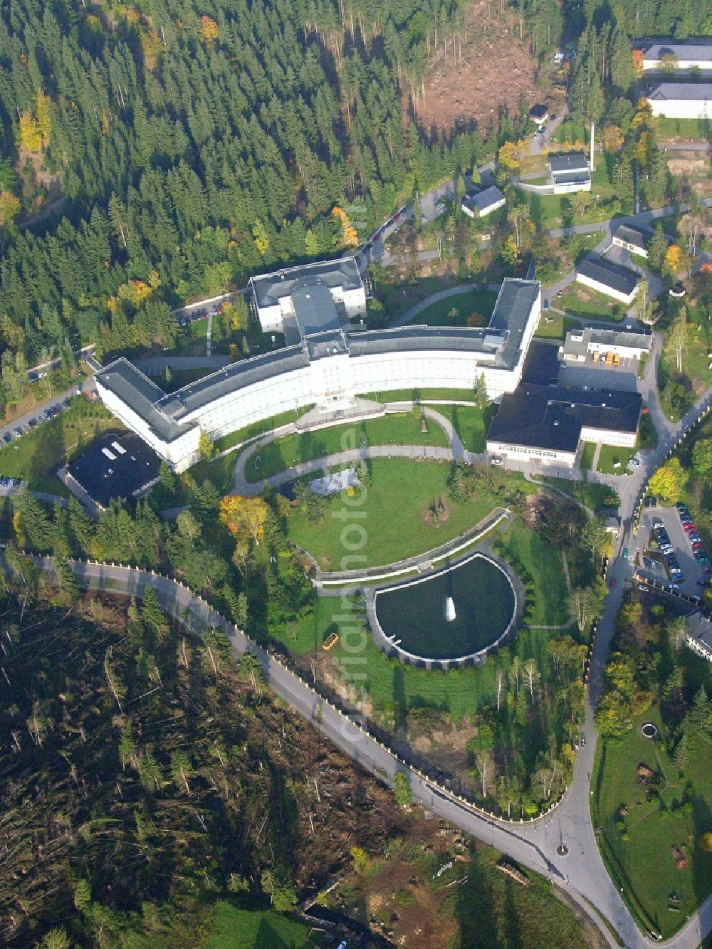
<svg viewBox="0 0 712 949">
<path fill-rule="evenodd" d="M 532 105 L 534 64 L 519 39 L 519 22 L 509 11 L 500 12 L 479 0 L 470 8 L 465 30 L 439 48 L 425 77 L 425 102 L 419 103 L 418 120 L 429 128 L 446 128 L 456 121 L 476 120 L 483 130 L 497 121 L 497 107 L 515 111 L 521 97 Z M 457 57 L 456 57 L 457 51 Z M 461 65 L 460 65 L 461 64 Z"/>
</svg>

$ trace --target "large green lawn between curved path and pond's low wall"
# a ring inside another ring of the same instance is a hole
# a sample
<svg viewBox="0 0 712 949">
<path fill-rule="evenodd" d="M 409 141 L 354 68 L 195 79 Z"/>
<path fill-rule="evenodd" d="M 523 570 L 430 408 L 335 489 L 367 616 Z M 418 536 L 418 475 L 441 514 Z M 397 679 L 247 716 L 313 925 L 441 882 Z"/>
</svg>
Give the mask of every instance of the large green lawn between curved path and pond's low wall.
<svg viewBox="0 0 712 949">
<path fill-rule="evenodd" d="M 326 502 L 326 517 L 313 522 L 306 513 L 292 509 L 287 522 L 290 539 L 309 550 L 325 570 L 375 567 L 390 564 L 439 547 L 475 527 L 496 505 L 488 497 L 467 502 L 450 497 L 450 466 L 437 461 L 409 458 L 374 458 L 372 484 L 363 504 L 345 504 L 336 494 Z M 522 482 L 524 485 L 525 482 Z M 428 523 L 428 508 L 441 498 L 447 518 Z M 349 517 L 348 511 L 354 516 Z M 365 517 L 361 516 L 365 513 Z M 358 516 L 356 516 L 358 515 Z M 351 525 L 349 530 L 348 525 Z M 357 527 L 358 525 L 358 527 Z M 354 554 L 354 546 L 358 546 Z M 354 559 L 355 556 L 363 560 Z M 350 558 L 342 567 L 344 558 Z"/>
</svg>

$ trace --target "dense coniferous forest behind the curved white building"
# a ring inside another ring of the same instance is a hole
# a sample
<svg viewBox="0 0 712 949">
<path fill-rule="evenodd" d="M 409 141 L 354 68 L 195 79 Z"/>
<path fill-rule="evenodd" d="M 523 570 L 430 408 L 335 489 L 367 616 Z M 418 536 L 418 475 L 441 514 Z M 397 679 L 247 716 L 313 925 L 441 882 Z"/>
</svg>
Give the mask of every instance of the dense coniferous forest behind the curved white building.
<svg viewBox="0 0 712 949">
<path fill-rule="evenodd" d="M 408 176 L 471 166 L 478 136 L 425 144 L 403 119 L 428 30 L 459 15 L 457 0 L 5 5 L 9 354 L 170 345 L 167 303 L 340 252 L 354 237 L 334 207 L 366 233 Z M 59 218 L 12 226 L 55 202 Z"/>
</svg>

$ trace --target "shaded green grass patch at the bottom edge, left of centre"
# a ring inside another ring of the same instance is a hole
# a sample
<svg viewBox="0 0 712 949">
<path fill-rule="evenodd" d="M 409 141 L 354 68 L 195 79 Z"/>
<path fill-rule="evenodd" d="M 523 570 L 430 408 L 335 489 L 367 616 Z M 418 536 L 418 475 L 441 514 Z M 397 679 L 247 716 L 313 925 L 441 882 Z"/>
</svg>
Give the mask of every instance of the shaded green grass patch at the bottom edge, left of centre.
<svg viewBox="0 0 712 949">
<path fill-rule="evenodd" d="M 208 949 L 300 949 L 322 945 L 310 938 L 311 927 L 272 909 L 238 909 L 229 902 L 215 904 L 215 917 L 207 938 Z"/>
</svg>

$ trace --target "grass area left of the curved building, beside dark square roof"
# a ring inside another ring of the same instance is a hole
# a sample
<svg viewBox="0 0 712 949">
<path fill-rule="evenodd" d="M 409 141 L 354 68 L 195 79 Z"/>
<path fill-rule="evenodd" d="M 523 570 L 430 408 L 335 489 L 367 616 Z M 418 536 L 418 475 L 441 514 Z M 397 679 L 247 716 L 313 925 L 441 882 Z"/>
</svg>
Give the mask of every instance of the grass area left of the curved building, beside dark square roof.
<svg viewBox="0 0 712 949">
<path fill-rule="evenodd" d="M 68 497 L 66 487 L 54 476 L 57 469 L 81 455 L 95 438 L 123 431 L 121 422 L 102 404 L 77 396 L 62 415 L 43 421 L 0 451 L 0 475 L 25 478 L 34 491 Z"/>
</svg>

